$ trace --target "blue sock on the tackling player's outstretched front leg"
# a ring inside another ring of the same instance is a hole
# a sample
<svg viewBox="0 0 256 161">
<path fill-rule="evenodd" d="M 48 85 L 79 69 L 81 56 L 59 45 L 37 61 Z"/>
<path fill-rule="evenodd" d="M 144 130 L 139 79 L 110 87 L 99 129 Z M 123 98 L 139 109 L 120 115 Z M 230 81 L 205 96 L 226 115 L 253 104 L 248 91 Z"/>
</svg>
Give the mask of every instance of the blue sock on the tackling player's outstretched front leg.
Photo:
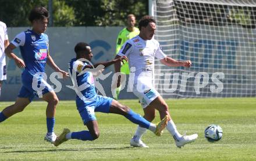
<svg viewBox="0 0 256 161">
<path fill-rule="evenodd" d="M 125 116 L 127 119 L 129 119 L 131 122 L 138 124 L 141 127 L 149 128 L 150 122 L 144 119 L 144 117 L 141 117 L 138 115 L 138 113 L 133 112 L 133 110 L 130 109 L 130 111 Z"/>
</svg>

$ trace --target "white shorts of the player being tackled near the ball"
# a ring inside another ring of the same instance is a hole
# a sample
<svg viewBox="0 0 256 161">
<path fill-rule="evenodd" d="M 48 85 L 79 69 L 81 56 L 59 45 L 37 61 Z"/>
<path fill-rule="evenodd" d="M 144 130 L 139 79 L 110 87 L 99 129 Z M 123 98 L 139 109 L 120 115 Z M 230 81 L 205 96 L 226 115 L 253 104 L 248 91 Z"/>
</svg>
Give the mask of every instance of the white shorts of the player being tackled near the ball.
<svg viewBox="0 0 256 161">
<path fill-rule="evenodd" d="M 133 93 L 140 99 L 140 104 L 143 108 L 150 105 L 150 103 L 160 95 L 155 88 L 144 90 L 144 92 L 139 92 L 136 88 L 133 88 Z"/>
</svg>

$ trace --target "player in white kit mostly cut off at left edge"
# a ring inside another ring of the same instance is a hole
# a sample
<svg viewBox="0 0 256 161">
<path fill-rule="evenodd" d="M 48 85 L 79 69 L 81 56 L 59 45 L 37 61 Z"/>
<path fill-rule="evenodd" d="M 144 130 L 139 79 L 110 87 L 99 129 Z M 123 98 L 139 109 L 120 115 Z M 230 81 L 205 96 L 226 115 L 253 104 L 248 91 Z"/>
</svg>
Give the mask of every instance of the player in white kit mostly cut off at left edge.
<svg viewBox="0 0 256 161">
<path fill-rule="evenodd" d="M 9 45 L 6 24 L 0 22 L 0 96 L 2 81 L 6 80 L 5 48 Z"/>
</svg>

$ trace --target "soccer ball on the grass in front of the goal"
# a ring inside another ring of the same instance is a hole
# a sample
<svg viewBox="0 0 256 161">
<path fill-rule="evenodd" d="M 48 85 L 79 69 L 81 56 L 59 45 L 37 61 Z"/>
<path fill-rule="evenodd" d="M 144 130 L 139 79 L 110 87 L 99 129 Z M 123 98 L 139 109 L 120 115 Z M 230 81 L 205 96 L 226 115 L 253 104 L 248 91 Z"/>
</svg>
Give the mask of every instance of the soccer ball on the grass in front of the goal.
<svg viewBox="0 0 256 161">
<path fill-rule="evenodd" d="M 222 138 L 222 128 L 218 125 L 211 124 L 205 128 L 204 137 L 209 142 L 219 141 Z"/>
</svg>

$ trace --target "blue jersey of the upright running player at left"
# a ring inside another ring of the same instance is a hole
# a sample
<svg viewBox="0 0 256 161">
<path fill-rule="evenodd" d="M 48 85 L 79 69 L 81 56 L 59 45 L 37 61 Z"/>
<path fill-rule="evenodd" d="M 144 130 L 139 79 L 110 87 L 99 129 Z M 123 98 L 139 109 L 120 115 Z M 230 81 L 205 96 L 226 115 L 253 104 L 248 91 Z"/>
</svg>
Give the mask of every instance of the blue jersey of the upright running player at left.
<svg viewBox="0 0 256 161">
<path fill-rule="evenodd" d="M 20 47 L 26 65 L 24 73 L 34 75 L 45 71 L 49 44 L 47 34 L 37 34 L 33 30 L 27 30 L 17 34 L 11 43 Z"/>
</svg>

